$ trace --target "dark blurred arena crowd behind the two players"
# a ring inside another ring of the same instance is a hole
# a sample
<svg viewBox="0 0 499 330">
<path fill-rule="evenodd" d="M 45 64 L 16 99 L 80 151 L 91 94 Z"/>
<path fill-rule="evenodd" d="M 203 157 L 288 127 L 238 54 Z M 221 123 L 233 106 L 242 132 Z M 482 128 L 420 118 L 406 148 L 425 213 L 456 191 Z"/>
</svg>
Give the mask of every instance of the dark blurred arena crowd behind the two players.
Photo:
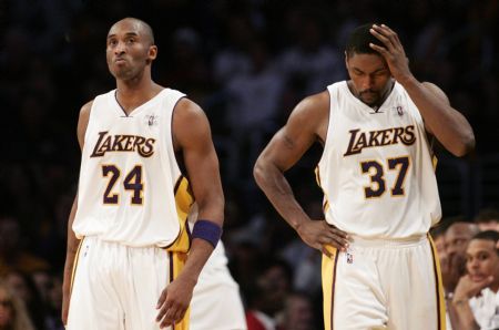
<svg viewBox="0 0 499 330">
<path fill-rule="evenodd" d="M 495 0 L 0 1 L 0 329 L 62 329 L 78 114 L 114 87 L 105 37 L 128 16 L 155 32 L 153 79 L 187 93 L 210 118 L 226 197 L 223 239 L 249 326 L 266 319 L 282 330 L 322 327 L 320 255 L 274 213 L 252 167 L 301 99 L 346 78 L 343 48 L 352 28 L 394 28 L 416 78 L 439 85 L 473 126 L 477 151 L 469 162 L 499 153 Z M 309 171 L 319 156 L 313 148 L 288 173 L 313 218 L 322 217 Z M 476 209 L 436 229 L 448 292 L 472 267 L 466 261 L 470 239 L 485 228 L 498 230 L 497 221 L 493 209 Z"/>
</svg>

